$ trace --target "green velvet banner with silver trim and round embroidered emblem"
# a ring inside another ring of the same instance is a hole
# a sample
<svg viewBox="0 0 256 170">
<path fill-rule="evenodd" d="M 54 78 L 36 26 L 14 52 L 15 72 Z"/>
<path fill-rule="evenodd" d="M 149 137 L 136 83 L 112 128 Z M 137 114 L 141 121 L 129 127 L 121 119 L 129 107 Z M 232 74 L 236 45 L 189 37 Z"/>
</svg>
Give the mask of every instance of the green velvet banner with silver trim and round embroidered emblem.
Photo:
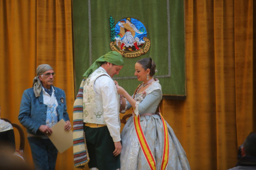
<svg viewBox="0 0 256 170">
<path fill-rule="evenodd" d="M 133 29 L 125 25 L 129 19 Z M 83 73 L 97 58 L 119 50 L 125 56 L 125 65 L 113 79 L 129 94 L 141 83 L 134 76 L 136 61 L 151 57 L 163 95 L 186 97 L 183 1 L 73 0 L 73 28 L 76 91 Z M 127 30 L 135 39 L 128 41 Z"/>
</svg>

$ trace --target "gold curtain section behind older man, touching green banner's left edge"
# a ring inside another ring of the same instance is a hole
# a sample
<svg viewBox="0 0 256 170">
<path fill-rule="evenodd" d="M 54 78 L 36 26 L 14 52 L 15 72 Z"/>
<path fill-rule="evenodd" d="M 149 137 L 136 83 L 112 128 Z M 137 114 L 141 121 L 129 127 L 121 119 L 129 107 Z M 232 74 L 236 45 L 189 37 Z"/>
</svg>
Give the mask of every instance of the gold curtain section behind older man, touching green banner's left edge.
<svg viewBox="0 0 256 170">
<path fill-rule="evenodd" d="M 74 103 L 71 1 L 36 1 L 36 62 L 50 64 L 54 85 L 66 93 L 70 122 Z M 73 169 L 73 150 L 58 155 L 56 169 Z"/>
</svg>

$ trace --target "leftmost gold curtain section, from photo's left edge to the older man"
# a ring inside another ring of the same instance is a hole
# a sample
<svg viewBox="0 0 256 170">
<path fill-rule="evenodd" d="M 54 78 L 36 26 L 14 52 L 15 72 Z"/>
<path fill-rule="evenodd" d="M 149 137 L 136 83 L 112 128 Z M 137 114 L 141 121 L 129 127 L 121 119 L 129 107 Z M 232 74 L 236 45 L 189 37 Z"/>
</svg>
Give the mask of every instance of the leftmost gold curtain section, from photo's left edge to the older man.
<svg viewBox="0 0 256 170">
<path fill-rule="evenodd" d="M 32 87 L 36 74 L 35 14 L 35 1 L 0 1 L 1 118 L 10 119 L 19 125 L 20 100 L 23 91 Z M 22 128 L 25 132 L 26 129 Z M 17 133 L 15 142 L 19 143 Z M 32 164 L 27 139 L 24 153 L 26 161 Z"/>
</svg>

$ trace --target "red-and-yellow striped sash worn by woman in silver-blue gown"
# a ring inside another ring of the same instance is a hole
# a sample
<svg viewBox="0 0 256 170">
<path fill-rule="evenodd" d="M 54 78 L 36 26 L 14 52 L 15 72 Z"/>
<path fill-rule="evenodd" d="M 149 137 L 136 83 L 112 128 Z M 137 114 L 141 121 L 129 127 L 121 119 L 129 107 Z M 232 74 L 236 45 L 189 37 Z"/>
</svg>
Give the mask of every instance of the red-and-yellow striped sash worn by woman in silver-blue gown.
<svg viewBox="0 0 256 170">
<path fill-rule="evenodd" d="M 135 97 L 135 94 L 138 90 L 138 88 L 141 86 L 141 84 L 137 87 L 137 89 L 134 92 L 133 98 Z M 158 106 L 159 108 L 159 106 Z M 167 129 L 167 124 L 160 112 L 157 112 L 159 116 L 161 117 L 162 123 L 163 123 L 163 128 L 164 128 L 164 146 L 163 146 L 163 154 L 162 154 L 162 161 L 161 161 L 161 170 L 165 170 L 168 165 L 168 160 L 169 160 L 169 136 L 168 136 L 168 129 Z M 151 170 L 156 170 L 156 160 L 154 158 L 154 155 L 152 154 L 152 151 L 148 145 L 148 142 L 146 140 L 145 134 L 141 128 L 140 124 L 140 114 L 138 116 L 135 115 L 133 108 L 132 108 L 132 115 L 133 115 L 133 124 L 136 132 L 136 136 L 138 138 L 140 148 L 144 154 L 144 157 L 147 161 L 148 166 L 150 167 Z"/>
</svg>

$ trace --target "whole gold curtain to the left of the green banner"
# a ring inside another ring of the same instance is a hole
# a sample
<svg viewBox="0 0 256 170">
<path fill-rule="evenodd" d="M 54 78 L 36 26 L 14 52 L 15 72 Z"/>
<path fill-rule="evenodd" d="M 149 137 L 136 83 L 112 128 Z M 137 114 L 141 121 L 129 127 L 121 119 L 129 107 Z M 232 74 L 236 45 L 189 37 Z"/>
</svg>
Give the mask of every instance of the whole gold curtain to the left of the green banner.
<svg viewBox="0 0 256 170">
<path fill-rule="evenodd" d="M 23 91 L 32 87 L 38 65 L 50 64 L 57 73 L 54 86 L 66 93 L 72 122 L 74 73 L 72 3 L 69 1 L 0 1 L 0 104 L 2 118 L 18 121 Z M 22 126 L 23 127 L 23 126 Z M 24 158 L 33 166 L 25 132 Z M 18 136 L 15 135 L 16 145 Z M 56 169 L 73 169 L 72 147 L 59 154 Z"/>
</svg>

